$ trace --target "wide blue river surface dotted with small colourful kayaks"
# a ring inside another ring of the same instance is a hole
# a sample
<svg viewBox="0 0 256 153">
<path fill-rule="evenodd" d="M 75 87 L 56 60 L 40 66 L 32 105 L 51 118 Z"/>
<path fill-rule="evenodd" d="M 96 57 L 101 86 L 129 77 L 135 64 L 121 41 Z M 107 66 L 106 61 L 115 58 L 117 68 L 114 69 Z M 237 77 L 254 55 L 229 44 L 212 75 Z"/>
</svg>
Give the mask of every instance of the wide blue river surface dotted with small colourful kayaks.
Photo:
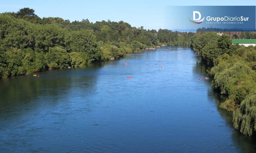
<svg viewBox="0 0 256 153">
<path fill-rule="evenodd" d="M 0 80 L 0 152 L 256 152 L 188 47 L 36 74 Z"/>
</svg>

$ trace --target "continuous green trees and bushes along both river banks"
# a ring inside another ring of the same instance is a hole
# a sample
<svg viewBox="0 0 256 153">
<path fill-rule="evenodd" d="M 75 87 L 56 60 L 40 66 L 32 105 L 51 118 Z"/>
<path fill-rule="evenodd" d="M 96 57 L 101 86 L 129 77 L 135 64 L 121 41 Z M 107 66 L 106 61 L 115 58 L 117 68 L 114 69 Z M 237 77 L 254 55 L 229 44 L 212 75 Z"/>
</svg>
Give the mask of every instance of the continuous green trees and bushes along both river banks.
<svg viewBox="0 0 256 153">
<path fill-rule="evenodd" d="M 220 107 L 233 111 L 234 128 L 244 135 L 256 135 L 256 47 L 230 40 L 255 39 L 255 32 L 220 36 L 216 32 L 145 30 L 123 21 L 41 19 L 33 9 L 23 8 L 0 14 L 0 35 L 0 78 L 79 67 L 161 46 L 190 46 L 207 62 L 207 71 L 214 76 L 213 88 L 228 96 Z"/>
</svg>

